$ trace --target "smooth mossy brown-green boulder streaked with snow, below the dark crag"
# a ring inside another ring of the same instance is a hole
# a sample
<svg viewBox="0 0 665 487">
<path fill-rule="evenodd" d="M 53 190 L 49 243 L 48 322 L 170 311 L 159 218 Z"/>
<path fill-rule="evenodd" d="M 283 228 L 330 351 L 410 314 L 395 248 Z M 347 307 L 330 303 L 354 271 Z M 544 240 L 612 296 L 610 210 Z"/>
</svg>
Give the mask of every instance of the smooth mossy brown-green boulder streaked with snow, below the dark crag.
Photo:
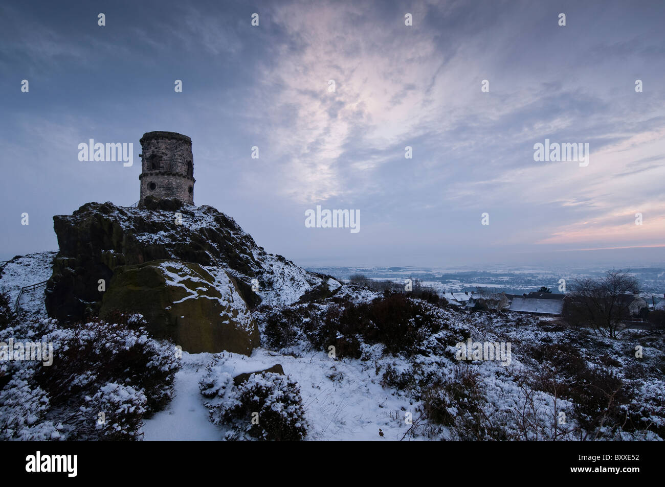
<svg viewBox="0 0 665 487">
<path fill-rule="evenodd" d="M 191 353 L 227 350 L 249 355 L 259 329 L 226 272 L 192 262 L 153 260 L 116 268 L 100 317 L 142 314 L 156 338 Z"/>
</svg>

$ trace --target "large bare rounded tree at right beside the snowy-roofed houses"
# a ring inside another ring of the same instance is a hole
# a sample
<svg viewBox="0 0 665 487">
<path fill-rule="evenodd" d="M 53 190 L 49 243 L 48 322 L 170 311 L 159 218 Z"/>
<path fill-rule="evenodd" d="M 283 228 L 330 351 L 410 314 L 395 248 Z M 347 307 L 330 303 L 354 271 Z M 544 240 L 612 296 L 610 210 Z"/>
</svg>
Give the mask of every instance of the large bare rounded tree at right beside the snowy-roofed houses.
<svg viewBox="0 0 665 487">
<path fill-rule="evenodd" d="M 565 318 L 575 326 L 595 328 L 602 336 L 618 338 L 621 323 L 630 316 L 638 283 L 626 272 L 610 270 L 597 279 L 577 280 L 565 305 Z"/>
</svg>

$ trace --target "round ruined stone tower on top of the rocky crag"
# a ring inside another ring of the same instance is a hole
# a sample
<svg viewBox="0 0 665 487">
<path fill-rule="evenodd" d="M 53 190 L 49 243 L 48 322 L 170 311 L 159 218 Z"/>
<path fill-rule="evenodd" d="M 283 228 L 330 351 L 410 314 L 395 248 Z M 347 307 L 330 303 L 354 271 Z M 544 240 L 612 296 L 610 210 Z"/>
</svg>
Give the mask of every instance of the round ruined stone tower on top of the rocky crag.
<svg viewBox="0 0 665 487">
<path fill-rule="evenodd" d="M 146 196 L 180 199 L 194 205 L 194 157 L 192 139 L 176 132 L 147 132 L 142 147 L 142 205 Z"/>
</svg>

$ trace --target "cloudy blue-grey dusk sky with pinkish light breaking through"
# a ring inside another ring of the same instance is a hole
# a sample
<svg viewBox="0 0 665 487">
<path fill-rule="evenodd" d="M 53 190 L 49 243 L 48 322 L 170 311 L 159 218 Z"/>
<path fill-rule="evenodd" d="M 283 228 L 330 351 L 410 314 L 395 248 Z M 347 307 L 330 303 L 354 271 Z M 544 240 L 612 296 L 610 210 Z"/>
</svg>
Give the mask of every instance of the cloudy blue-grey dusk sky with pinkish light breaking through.
<svg viewBox="0 0 665 487">
<path fill-rule="evenodd" d="M 660 0 L 3 2 L 0 258 L 137 201 L 138 141 L 166 130 L 192 138 L 196 204 L 305 266 L 665 262 L 664 21 Z M 134 165 L 78 161 L 89 139 Z M 545 139 L 589 165 L 534 161 Z M 316 205 L 360 232 L 306 228 Z"/>
</svg>

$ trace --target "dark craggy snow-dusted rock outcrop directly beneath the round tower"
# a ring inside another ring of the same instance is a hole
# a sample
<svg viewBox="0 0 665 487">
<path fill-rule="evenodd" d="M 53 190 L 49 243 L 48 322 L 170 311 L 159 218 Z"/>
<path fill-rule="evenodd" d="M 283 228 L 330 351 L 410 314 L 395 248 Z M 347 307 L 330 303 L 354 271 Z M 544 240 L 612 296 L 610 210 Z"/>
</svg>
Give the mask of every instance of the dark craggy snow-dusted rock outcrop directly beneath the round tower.
<svg viewBox="0 0 665 487">
<path fill-rule="evenodd" d="M 87 203 L 53 217 L 60 251 L 47 284 L 49 316 L 63 321 L 96 316 L 118 266 L 182 260 L 225 270 L 249 308 L 297 302 L 325 286 L 282 256 L 257 246 L 232 218 L 213 207 L 146 197 L 143 208 Z"/>
</svg>

